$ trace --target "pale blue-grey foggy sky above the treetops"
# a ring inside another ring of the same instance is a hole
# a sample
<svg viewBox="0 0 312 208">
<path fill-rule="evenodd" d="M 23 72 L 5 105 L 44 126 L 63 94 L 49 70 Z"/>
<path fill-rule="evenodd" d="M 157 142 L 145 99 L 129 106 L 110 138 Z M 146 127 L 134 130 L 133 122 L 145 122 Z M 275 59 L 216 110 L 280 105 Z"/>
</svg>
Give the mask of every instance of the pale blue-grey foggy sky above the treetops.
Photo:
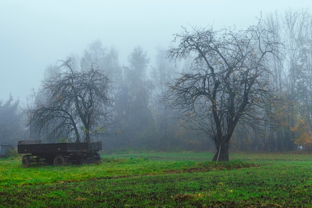
<svg viewBox="0 0 312 208">
<path fill-rule="evenodd" d="M 153 63 L 181 25 L 246 28 L 261 11 L 290 7 L 312 12 L 311 0 L 1 0 L 0 100 L 11 93 L 25 103 L 49 64 L 98 39 L 118 50 L 121 65 L 138 45 Z"/>
</svg>

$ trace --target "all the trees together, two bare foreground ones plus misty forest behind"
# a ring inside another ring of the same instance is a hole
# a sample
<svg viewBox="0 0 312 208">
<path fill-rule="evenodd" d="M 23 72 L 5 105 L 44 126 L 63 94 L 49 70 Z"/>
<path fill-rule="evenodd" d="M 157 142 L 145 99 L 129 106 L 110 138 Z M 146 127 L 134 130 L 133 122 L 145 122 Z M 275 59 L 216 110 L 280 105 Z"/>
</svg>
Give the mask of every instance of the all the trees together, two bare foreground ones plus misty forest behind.
<svg viewBox="0 0 312 208">
<path fill-rule="evenodd" d="M 244 30 L 183 28 L 174 41 L 152 66 L 140 46 L 122 66 L 98 40 L 49 65 L 27 106 L 0 102 L 0 138 L 214 150 L 225 161 L 229 149 L 311 150 L 309 10 L 271 13 Z"/>
</svg>

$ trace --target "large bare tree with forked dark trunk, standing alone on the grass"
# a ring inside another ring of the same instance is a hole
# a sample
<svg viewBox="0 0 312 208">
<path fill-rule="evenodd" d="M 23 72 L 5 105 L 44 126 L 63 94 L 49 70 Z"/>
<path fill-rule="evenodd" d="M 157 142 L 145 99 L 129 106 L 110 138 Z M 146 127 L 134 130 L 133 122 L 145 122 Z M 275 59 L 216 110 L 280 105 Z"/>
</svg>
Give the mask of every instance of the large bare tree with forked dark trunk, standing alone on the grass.
<svg viewBox="0 0 312 208">
<path fill-rule="evenodd" d="M 214 161 L 228 161 L 228 148 L 238 121 L 261 124 L 272 116 L 268 106 L 276 99 L 267 80 L 268 53 L 276 52 L 275 42 L 260 22 L 247 30 L 185 28 L 168 57 L 193 59 L 189 72 L 168 83 L 165 100 L 181 110 L 191 129 L 204 132 L 216 145 Z M 271 109 L 272 110 L 272 109 Z"/>
</svg>

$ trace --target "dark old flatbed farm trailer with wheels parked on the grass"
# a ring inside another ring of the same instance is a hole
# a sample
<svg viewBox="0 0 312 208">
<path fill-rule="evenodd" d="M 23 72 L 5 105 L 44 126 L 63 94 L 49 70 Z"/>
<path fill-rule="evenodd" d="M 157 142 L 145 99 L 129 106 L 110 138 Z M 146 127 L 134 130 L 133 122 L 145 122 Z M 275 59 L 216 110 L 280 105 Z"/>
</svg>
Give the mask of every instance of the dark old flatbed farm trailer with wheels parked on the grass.
<svg viewBox="0 0 312 208">
<path fill-rule="evenodd" d="M 102 150 L 102 142 L 88 143 L 51 143 L 41 144 L 41 140 L 19 141 L 17 152 L 25 154 L 22 166 L 28 168 L 30 163 L 45 162 L 48 165 L 65 166 L 67 163 L 81 165 L 101 160 L 97 153 Z"/>
</svg>

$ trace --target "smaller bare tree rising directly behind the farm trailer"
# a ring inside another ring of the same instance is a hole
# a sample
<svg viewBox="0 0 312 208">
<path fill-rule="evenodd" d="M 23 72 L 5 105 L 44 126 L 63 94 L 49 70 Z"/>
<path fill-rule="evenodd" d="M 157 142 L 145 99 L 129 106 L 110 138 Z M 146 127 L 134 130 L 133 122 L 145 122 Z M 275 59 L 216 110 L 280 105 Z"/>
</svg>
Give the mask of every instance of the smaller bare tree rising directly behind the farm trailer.
<svg viewBox="0 0 312 208">
<path fill-rule="evenodd" d="M 74 60 L 61 61 L 59 72 L 43 81 L 36 104 L 28 110 L 29 125 L 38 132 L 52 129 L 50 137 L 74 136 L 91 143 L 111 123 L 113 101 L 110 80 L 96 68 L 77 70 Z"/>
</svg>

